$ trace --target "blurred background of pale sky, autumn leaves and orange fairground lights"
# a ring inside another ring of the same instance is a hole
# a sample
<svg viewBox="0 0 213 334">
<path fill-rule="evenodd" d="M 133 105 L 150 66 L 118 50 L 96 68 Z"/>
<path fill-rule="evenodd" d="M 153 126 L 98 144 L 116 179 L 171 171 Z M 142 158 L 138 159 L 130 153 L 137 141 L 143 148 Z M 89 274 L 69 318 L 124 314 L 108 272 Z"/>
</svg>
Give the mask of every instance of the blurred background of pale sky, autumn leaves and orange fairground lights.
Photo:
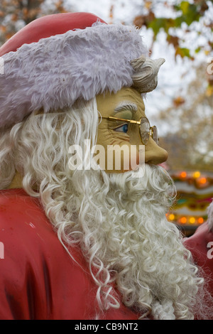
<svg viewBox="0 0 213 334">
<path fill-rule="evenodd" d="M 1 0 L 0 45 L 35 18 L 67 11 L 138 26 L 151 58 L 165 58 L 146 115 L 178 190 L 168 220 L 192 235 L 213 198 L 213 0 Z"/>
</svg>

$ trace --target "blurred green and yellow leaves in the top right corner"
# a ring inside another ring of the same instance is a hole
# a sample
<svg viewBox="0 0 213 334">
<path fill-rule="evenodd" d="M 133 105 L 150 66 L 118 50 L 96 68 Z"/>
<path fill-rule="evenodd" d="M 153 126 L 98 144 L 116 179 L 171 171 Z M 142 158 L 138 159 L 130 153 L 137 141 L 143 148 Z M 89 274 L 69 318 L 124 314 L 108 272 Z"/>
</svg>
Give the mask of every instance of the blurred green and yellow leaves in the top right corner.
<svg viewBox="0 0 213 334">
<path fill-rule="evenodd" d="M 206 13 L 210 11 L 209 6 L 212 6 L 213 1 L 204 1 L 204 0 L 194 0 L 194 1 L 180 1 L 173 6 L 169 1 L 163 1 L 160 5 L 163 10 L 164 7 L 170 7 L 170 11 L 173 13 L 171 17 L 161 16 L 157 17 L 158 9 L 155 7 L 158 4 L 158 1 L 148 1 L 144 0 L 143 4 L 148 9 L 148 13 L 137 16 L 134 23 L 136 26 L 141 28 L 146 26 L 153 31 L 153 42 L 155 42 L 158 33 L 160 31 L 165 31 L 167 35 L 168 43 L 172 44 L 175 48 L 175 57 L 180 55 L 180 57 L 194 59 L 191 53 L 199 53 L 204 50 L 208 50 L 209 53 L 212 51 L 212 31 L 213 23 L 208 21 L 206 18 Z M 212 7 L 211 7 L 212 9 Z M 175 15 L 174 15 L 175 14 Z M 185 25 L 183 25 L 185 23 Z M 196 29 L 192 23 L 197 23 Z M 182 34 L 179 34 L 180 30 Z M 202 35 L 206 39 L 206 45 L 199 45 L 193 50 L 193 45 L 190 44 L 190 49 L 183 46 L 182 43 L 185 43 L 185 38 L 190 32 L 197 33 L 197 36 Z M 180 36 L 182 35 L 182 38 Z"/>
</svg>

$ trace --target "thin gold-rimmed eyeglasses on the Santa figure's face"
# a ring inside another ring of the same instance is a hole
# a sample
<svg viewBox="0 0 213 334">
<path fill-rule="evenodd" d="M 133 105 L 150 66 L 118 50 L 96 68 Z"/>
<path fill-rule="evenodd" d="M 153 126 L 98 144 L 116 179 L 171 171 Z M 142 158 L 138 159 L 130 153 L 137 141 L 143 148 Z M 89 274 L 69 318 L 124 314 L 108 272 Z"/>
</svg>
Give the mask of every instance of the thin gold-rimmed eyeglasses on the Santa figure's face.
<svg viewBox="0 0 213 334">
<path fill-rule="evenodd" d="M 157 127 L 154 126 L 150 126 L 150 122 L 146 117 L 141 117 L 141 119 L 139 121 L 134 121 L 133 119 L 123 119 L 123 118 L 116 118 L 116 117 L 102 117 L 99 116 L 103 119 L 111 119 L 111 120 L 116 120 L 116 121 L 124 121 L 125 123 L 131 123 L 131 124 L 138 124 L 139 125 L 139 133 L 141 136 L 141 141 L 143 145 L 146 145 L 148 143 L 148 139 L 151 136 L 152 139 L 155 141 L 156 144 L 159 143 L 159 138 L 158 138 L 158 129 Z M 120 124 L 119 126 L 116 126 L 114 128 L 118 129 L 120 126 L 122 126 L 124 124 Z"/>
</svg>

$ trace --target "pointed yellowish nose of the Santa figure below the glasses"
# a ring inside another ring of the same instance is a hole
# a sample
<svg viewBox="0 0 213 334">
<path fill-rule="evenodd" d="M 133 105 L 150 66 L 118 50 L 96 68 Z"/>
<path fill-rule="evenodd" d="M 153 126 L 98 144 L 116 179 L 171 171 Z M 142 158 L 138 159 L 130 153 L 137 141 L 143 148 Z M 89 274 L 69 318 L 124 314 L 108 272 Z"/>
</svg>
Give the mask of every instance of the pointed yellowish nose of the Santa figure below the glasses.
<svg viewBox="0 0 213 334">
<path fill-rule="evenodd" d="M 145 146 L 145 162 L 158 165 L 168 159 L 168 152 L 153 141 L 152 138 L 148 140 Z"/>
</svg>

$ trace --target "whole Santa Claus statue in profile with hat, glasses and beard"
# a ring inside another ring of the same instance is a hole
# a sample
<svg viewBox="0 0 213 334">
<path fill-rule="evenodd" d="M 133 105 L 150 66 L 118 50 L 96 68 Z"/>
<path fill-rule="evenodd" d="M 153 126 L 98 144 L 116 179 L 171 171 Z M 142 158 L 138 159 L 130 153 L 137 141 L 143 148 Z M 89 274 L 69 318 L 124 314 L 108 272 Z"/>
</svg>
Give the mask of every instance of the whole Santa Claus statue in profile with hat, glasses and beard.
<svg viewBox="0 0 213 334">
<path fill-rule="evenodd" d="M 211 318 L 143 104 L 164 60 L 85 13 L 38 18 L 0 55 L 0 318 Z"/>
</svg>

